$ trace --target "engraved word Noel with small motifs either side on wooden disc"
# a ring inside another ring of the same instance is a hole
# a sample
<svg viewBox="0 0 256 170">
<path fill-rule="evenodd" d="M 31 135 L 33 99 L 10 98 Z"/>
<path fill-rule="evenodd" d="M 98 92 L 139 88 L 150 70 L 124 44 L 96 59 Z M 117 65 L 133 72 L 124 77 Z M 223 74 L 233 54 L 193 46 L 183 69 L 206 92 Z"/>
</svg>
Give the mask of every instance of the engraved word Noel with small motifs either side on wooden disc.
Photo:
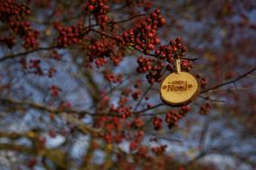
<svg viewBox="0 0 256 170">
<path fill-rule="evenodd" d="M 192 84 L 188 84 L 188 81 L 172 81 L 168 82 L 168 85 L 163 85 L 163 89 L 166 91 L 187 91 L 192 88 Z"/>
</svg>

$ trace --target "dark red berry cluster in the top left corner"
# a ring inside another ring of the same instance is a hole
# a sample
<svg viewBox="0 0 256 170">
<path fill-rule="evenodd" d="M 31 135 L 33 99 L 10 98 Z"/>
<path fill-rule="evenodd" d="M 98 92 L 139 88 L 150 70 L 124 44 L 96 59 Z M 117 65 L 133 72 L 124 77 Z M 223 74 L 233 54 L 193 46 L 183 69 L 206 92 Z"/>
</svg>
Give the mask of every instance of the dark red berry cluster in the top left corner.
<svg viewBox="0 0 256 170">
<path fill-rule="evenodd" d="M 14 0 L 0 0 L 0 21 L 21 21 L 30 13 L 27 4 L 17 4 Z"/>
</svg>

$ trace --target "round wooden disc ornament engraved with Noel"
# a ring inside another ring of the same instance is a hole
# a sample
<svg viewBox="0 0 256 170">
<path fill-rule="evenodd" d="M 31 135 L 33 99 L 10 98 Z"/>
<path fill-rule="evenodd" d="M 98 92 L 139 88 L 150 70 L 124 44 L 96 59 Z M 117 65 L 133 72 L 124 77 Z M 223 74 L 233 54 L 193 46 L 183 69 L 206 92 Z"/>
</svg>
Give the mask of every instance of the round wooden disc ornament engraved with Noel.
<svg viewBox="0 0 256 170">
<path fill-rule="evenodd" d="M 160 86 L 160 96 L 170 106 L 188 105 L 199 94 L 199 82 L 189 72 L 173 72 Z"/>
</svg>

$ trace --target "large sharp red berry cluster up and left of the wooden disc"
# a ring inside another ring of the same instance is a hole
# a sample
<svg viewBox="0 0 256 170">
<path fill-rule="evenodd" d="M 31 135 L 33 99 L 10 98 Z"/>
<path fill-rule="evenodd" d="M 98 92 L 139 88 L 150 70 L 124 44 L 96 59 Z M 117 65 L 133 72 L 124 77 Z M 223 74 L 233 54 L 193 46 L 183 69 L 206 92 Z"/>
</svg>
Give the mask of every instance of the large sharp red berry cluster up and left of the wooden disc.
<svg viewBox="0 0 256 170">
<path fill-rule="evenodd" d="M 119 45 L 137 47 L 149 54 L 154 50 L 155 46 L 160 44 L 159 38 L 156 36 L 156 30 L 165 24 L 165 19 L 160 14 L 160 10 L 155 10 L 142 21 L 137 29 L 129 29 L 117 37 Z"/>
</svg>

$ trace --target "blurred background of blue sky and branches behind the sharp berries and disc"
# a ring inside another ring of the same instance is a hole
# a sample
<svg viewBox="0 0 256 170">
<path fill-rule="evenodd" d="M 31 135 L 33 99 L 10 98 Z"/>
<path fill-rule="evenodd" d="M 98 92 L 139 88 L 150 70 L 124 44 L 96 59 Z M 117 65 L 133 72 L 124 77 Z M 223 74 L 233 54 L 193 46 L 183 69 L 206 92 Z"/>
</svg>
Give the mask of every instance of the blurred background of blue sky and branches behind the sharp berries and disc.
<svg viewBox="0 0 256 170">
<path fill-rule="evenodd" d="M 6 2 L 0 0 L 1 7 Z M 137 72 L 137 57 L 145 54 L 114 45 L 119 65 L 104 56 L 107 62 L 98 68 L 93 62 L 101 56 L 94 56 L 92 62 L 88 53 L 101 36 L 84 36 L 87 42 L 79 46 L 56 46 L 57 24 L 97 24 L 93 14 L 83 13 L 88 1 L 15 3 L 30 7 L 31 14 L 22 21 L 29 21 L 40 32 L 39 46 L 26 49 L 24 39 L 2 19 L 1 8 L 0 38 L 15 39 L 11 48 L 0 41 L 1 170 L 256 168 L 256 1 L 108 1 L 110 21 L 123 22 L 117 24 L 116 32 L 104 33 L 122 34 L 144 18 L 125 20 L 158 8 L 166 21 L 157 30 L 161 44 L 179 37 L 188 48 L 186 57 L 198 58 L 189 64 L 190 72 L 203 85 L 201 92 L 189 105 L 188 114 L 172 128 L 164 121 L 166 114 L 181 108 L 164 105 L 159 83 L 152 85 L 145 73 Z M 169 73 L 164 72 L 163 77 Z M 115 82 L 110 81 L 113 75 Z M 117 111 L 112 108 L 120 103 L 125 103 L 122 109 L 139 113 L 139 119 L 108 118 L 114 117 L 111 115 Z M 62 114 L 66 109 L 70 114 Z M 159 131 L 154 130 L 155 116 L 163 120 Z M 115 131 L 113 138 L 121 136 L 120 141 L 104 142 L 95 135 L 107 129 L 106 140 L 110 133 L 106 120 L 121 122 L 121 132 L 118 125 L 110 128 Z M 136 120 L 143 122 L 142 128 L 128 125 Z M 131 143 L 138 132 L 143 137 L 133 150 Z M 155 153 L 153 148 L 159 146 L 165 149 L 163 154 Z M 150 158 L 139 156 L 142 147 Z"/>
</svg>

